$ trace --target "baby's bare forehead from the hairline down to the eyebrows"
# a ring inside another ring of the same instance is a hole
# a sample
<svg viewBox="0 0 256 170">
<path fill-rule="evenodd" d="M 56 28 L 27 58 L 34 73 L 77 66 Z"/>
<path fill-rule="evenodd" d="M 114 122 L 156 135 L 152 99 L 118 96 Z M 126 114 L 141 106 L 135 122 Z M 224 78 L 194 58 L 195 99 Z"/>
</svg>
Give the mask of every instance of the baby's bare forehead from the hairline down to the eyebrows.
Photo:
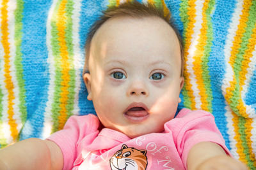
<svg viewBox="0 0 256 170">
<path fill-rule="evenodd" d="M 91 47 L 89 66 L 92 60 L 103 64 L 116 58 L 130 61 L 131 56 L 140 60 L 149 56 L 162 60 L 180 59 L 179 39 L 175 31 L 158 17 L 111 18 L 95 32 Z"/>
</svg>

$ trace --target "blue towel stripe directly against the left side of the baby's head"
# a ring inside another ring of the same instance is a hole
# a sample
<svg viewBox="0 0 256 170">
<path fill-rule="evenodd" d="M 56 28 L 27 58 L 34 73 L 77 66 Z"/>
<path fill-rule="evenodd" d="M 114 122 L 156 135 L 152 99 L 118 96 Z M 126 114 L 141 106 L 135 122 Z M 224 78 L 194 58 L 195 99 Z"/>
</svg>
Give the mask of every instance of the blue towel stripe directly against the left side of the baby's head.
<svg viewBox="0 0 256 170">
<path fill-rule="evenodd" d="M 90 27 L 93 22 L 97 20 L 102 10 L 105 10 L 108 6 L 108 0 L 97 0 L 97 1 L 86 1 L 83 0 L 81 2 L 81 13 L 80 13 L 80 23 L 79 23 L 79 38 L 80 38 L 80 48 L 81 53 L 84 56 L 84 44 L 86 41 L 86 37 Z M 84 10 L 88 9 L 90 10 Z M 83 59 L 84 60 L 84 59 Z M 80 70 L 81 74 L 81 89 L 79 90 L 79 115 L 87 115 L 88 113 L 95 114 L 95 110 L 93 108 L 92 101 L 87 100 L 87 90 L 84 86 L 83 77 L 82 77 L 83 69 Z"/>
</svg>

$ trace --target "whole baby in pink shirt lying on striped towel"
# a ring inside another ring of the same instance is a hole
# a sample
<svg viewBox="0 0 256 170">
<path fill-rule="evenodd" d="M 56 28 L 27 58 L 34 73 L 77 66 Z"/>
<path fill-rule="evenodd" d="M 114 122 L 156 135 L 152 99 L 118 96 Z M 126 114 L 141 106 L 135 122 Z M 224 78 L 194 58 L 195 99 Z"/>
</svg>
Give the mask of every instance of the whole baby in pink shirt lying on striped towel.
<svg viewBox="0 0 256 170">
<path fill-rule="evenodd" d="M 183 59 L 169 17 L 136 1 L 104 11 L 88 35 L 83 73 L 98 117 L 72 116 L 46 140 L 4 148 L 0 167 L 246 169 L 210 113 L 182 109 L 175 117 Z"/>
</svg>

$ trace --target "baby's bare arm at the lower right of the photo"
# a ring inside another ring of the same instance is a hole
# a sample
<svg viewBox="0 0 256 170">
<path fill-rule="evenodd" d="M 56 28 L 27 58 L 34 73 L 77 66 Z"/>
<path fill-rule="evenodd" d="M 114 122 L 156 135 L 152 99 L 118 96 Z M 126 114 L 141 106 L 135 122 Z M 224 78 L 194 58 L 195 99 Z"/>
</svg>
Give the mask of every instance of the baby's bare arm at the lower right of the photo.
<svg viewBox="0 0 256 170">
<path fill-rule="evenodd" d="M 201 142 L 191 148 L 187 160 L 188 170 L 232 169 L 245 170 L 244 164 L 229 157 L 216 143 Z"/>
</svg>

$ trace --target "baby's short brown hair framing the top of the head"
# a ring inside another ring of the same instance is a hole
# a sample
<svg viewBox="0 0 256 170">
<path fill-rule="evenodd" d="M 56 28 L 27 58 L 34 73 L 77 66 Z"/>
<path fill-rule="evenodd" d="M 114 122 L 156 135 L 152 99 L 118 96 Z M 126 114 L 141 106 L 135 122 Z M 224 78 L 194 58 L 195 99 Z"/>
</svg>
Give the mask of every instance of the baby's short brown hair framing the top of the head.
<svg viewBox="0 0 256 170">
<path fill-rule="evenodd" d="M 183 75 L 183 65 L 184 65 L 184 54 L 183 54 L 183 46 L 182 39 L 180 38 L 179 32 L 175 29 L 174 24 L 170 20 L 171 15 L 170 11 L 168 13 L 164 13 L 163 8 L 157 8 L 155 4 L 152 3 L 139 3 L 138 1 L 127 1 L 125 3 L 120 4 L 119 6 L 111 6 L 107 10 L 102 11 L 103 15 L 96 20 L 92 25 L 90 31 L 88 32 L 88 36 L 85 43 L 85 63 L 84 63 L 84 73 L 88 73 L 88 61 L 90 57 L 90 46 L 92 43 L 93 36 L 95 32 L 110 18 L 114 17 L 132 17 L 132 18 L 144 18 L 144 17 L 158 17 L 162 18 L 170 27 L 172 27 L 173 31 L 177 38 L 179 39 L 180 45 L 180 57 L 181 57 L 181 71 L 180 76 Z"/>
</svg>

